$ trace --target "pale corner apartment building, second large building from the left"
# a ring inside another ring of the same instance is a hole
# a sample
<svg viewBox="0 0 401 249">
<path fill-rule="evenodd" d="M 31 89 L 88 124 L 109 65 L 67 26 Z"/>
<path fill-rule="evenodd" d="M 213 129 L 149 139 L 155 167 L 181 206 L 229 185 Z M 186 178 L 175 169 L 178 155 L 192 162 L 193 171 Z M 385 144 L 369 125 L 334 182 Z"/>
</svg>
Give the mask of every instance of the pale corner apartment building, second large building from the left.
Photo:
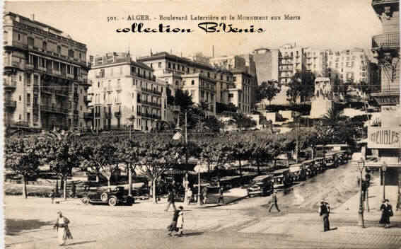
<svg viewBox="0 0 401 249">
<path fill-rule="evenodd" d="M 165 120 L 166 85 L 153 69 L 134 62 L 129 53 L 91 57 L 93 129 L 157 129 Z"/>
</svg>

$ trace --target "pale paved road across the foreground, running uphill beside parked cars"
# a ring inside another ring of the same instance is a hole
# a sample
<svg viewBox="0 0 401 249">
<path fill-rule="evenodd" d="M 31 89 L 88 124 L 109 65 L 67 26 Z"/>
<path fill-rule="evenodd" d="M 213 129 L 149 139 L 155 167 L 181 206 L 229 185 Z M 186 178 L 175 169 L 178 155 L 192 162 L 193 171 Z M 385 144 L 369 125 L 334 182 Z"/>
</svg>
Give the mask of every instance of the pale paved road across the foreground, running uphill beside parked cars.
<svg viewBox="0 0 401 249">
<path fill-rule="evenodd" d="M 172 212 L 160 208 L 138 210 L 135 205 L 86 206 L 78 202 L 49 205 L 48 199 L 6 197 L 6 245 L 57 247 L 52 224 L 57 209 L 62 208 L 71 220 L 74 236 L 66 248 L 400 248 L 400 228 L 375 225 L 361 230 L 344 214 L 332 215 L 336 231 L 322 233 L 316 203 L 326 197 L 336 207 L 349 199 L 355 191 L 355 175 L 351 166 L 341 166 L 282 192 L 280 213 L 267 213 L 270 197 L 188 209 L 182 238 L 166 235 Z"/>
</svg>

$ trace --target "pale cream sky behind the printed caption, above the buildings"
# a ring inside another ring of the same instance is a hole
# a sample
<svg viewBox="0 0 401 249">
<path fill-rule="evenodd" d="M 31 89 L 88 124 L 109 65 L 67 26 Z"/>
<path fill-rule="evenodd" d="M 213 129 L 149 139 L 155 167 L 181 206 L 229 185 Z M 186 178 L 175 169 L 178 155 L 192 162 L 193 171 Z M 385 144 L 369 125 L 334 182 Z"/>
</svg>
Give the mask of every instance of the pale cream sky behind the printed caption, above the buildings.
<svg viewBox="0 0 401 249">
<path fill-rule="evenodd" d="M 371 0 L 262 0 L 262 1 L 6 1 L 5 11 L 63 30 L 88 47 L 88 54 L 126 52 L 144 56 L 173 52 L 187 56 L 196 52 L 211 56 L 250 53 L 258 47 L 278 48 L 286 43 L 303 47 L 344 50 L 371 48 L 371 37 L 382 33 Z M 280 21 L 214 21 L 238 28 L 263 28 L 263 33 L 205 33 L 204 21 L 160 21 L 163 16 L 280 16 Z M 284 15 L 299 16 L 286 21 Z M 127 21 L 129 15 L 148 15 L 151 21 Z M 117 21 L 107 22 L 107 17 Z M 124 20 L 122 20 L 124 18 Z M 171 28 L 191 28 L 193 33 L 117 33 L 143 22 L 146 28 L 159 23 Z"/>
</svg>

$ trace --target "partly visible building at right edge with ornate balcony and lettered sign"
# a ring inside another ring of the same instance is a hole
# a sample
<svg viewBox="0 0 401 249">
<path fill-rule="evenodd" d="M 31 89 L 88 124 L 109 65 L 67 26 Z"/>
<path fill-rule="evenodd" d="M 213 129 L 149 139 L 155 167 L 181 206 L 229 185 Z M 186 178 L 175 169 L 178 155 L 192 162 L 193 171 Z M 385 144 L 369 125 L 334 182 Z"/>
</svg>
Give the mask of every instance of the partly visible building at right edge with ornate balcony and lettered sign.
<svg viewBox="0 0 401 249">
<path fill-rule="evenodd" d="M 400 108 L 400 5 L 398 0 L 373 0 L 372 6 L 383 33 L 372 37 L 372 51 L 380 67 L 381 89 L 373 93 L 380 105 L 380 119 L 368 127 L 368 148 L 380 168 L 383 198 L 399 203 L 401 195 L 401 108 Z"/>
</svg>

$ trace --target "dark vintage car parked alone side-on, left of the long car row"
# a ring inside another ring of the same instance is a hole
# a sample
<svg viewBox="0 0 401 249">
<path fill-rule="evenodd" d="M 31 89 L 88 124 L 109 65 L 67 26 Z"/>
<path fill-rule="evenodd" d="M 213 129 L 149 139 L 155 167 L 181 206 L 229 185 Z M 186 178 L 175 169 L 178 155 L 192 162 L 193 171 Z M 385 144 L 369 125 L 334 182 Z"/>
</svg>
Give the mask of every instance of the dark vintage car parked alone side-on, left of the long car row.
<svg viewBox="0 0 401 249">
<path fill-rule="evenodd" d="M 95 193 L 87 195 L 81 199 L 83 204 L 109 204 L 109 206 L 116 206 L 117 204 L 129 205 L 134 204 L 135 199 L 126 195 L 124 187 L 115 187 L 114 190 L 105 191 L 103 193 Z"/>
</svg>

